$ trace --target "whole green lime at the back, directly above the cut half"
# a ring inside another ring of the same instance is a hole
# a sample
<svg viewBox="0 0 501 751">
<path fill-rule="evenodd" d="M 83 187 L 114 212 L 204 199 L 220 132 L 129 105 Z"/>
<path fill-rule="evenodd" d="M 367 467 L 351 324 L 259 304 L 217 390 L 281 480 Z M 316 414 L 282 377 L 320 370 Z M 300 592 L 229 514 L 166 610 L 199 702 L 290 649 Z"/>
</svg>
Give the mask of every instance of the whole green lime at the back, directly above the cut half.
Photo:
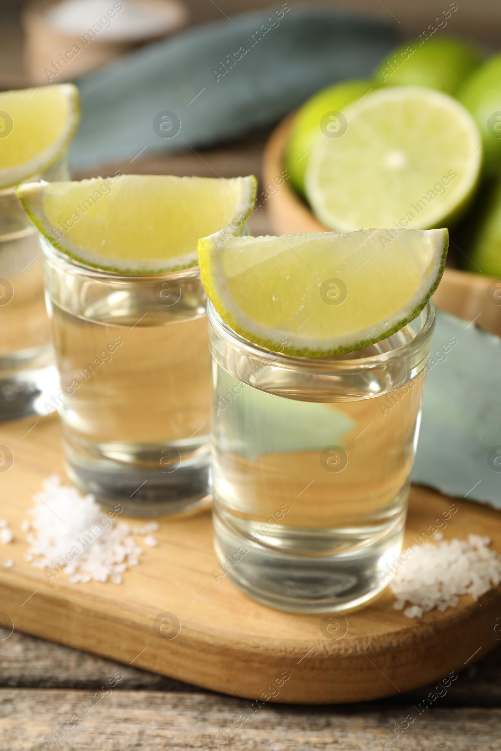
<svg viewBox="0 0 501 751">
<path fill-rule="evenodd" d="M 480 65 L 475 45 L 453 37 L 412 39 L 382 59 L 375 80 L 379 86 L 427 86 L 457 95 L 461 83 Z"/>
</svg>

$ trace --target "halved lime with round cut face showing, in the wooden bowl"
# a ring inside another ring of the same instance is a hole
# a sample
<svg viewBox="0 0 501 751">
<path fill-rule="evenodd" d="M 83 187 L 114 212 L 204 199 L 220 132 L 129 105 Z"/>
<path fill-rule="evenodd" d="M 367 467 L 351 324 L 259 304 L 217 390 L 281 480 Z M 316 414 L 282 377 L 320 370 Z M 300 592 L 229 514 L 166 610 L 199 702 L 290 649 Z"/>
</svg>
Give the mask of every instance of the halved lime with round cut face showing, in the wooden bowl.
<svg viewBox="0 0 501 751">
<path fill-rule="evenodd" d="M 440 227 L 472 197 L 481 137 L 455 99 L 388 87 L 344 114 L 346 130 L 318 136 L 306 171 L 309 202 L 327 227 Z"/>
</svg>

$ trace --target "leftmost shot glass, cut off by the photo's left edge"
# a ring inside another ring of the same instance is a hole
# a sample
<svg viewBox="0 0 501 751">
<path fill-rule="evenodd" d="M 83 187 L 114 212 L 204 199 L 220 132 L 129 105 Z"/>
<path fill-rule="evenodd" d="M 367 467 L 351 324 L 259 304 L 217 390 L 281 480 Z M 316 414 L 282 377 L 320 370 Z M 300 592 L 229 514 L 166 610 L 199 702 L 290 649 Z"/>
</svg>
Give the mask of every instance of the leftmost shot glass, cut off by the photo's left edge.
<svg viewBox="0 0 501 751">
<path fill-rule="evenodd" d="M 30 180 L 68 179 L 68 158 Z M 44 403 L 58 388 L 38 233 L 29 222 L 15 187 L 0 190 L 0 420 L 32 412 L 46 415 Z"/>
</svg>

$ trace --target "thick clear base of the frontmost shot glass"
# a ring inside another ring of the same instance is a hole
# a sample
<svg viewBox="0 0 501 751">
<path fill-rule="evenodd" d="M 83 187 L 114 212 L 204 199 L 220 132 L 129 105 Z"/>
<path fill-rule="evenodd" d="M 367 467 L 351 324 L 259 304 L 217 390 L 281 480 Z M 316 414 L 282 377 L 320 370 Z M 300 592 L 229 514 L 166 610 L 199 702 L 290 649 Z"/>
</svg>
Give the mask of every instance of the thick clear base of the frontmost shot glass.
<svg viewBox="0 0 501 751">
<path fill-rule="evenodd" d="M 390 535 L 363 550 L 309 556 L 251 541 L 215 509 L 214 547 L 222 575 L 261 605 L 288 613 L 343 613 L 367 605 L 387 587 L 386 564 L 400 553 L 404 521 L 405 514 Z"/>
</svg>

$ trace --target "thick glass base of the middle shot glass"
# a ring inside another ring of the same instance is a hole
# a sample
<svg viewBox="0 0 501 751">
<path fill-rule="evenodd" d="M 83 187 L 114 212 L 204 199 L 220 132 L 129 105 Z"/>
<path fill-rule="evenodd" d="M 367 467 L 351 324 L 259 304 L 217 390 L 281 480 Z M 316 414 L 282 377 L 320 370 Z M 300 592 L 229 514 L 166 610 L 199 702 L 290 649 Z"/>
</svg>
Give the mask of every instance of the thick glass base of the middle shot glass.
<svg viewBox="0 0 501 751">
<path fill-rule="evenodd" d="M 116 451 L 123 461 L 102 454 L 88 457 L 65 441 L 63 448 L 74 485 L 82 493 L 94 493 L 102 506 L 113 511 L 120 505 L 133 517 L 191 516 L 212 502 L 208 451 L 181 460 L 173 472 L 161 472 L 154 466 L 155 451 L 137 444 L 119 445 Z"/>
</svg>

